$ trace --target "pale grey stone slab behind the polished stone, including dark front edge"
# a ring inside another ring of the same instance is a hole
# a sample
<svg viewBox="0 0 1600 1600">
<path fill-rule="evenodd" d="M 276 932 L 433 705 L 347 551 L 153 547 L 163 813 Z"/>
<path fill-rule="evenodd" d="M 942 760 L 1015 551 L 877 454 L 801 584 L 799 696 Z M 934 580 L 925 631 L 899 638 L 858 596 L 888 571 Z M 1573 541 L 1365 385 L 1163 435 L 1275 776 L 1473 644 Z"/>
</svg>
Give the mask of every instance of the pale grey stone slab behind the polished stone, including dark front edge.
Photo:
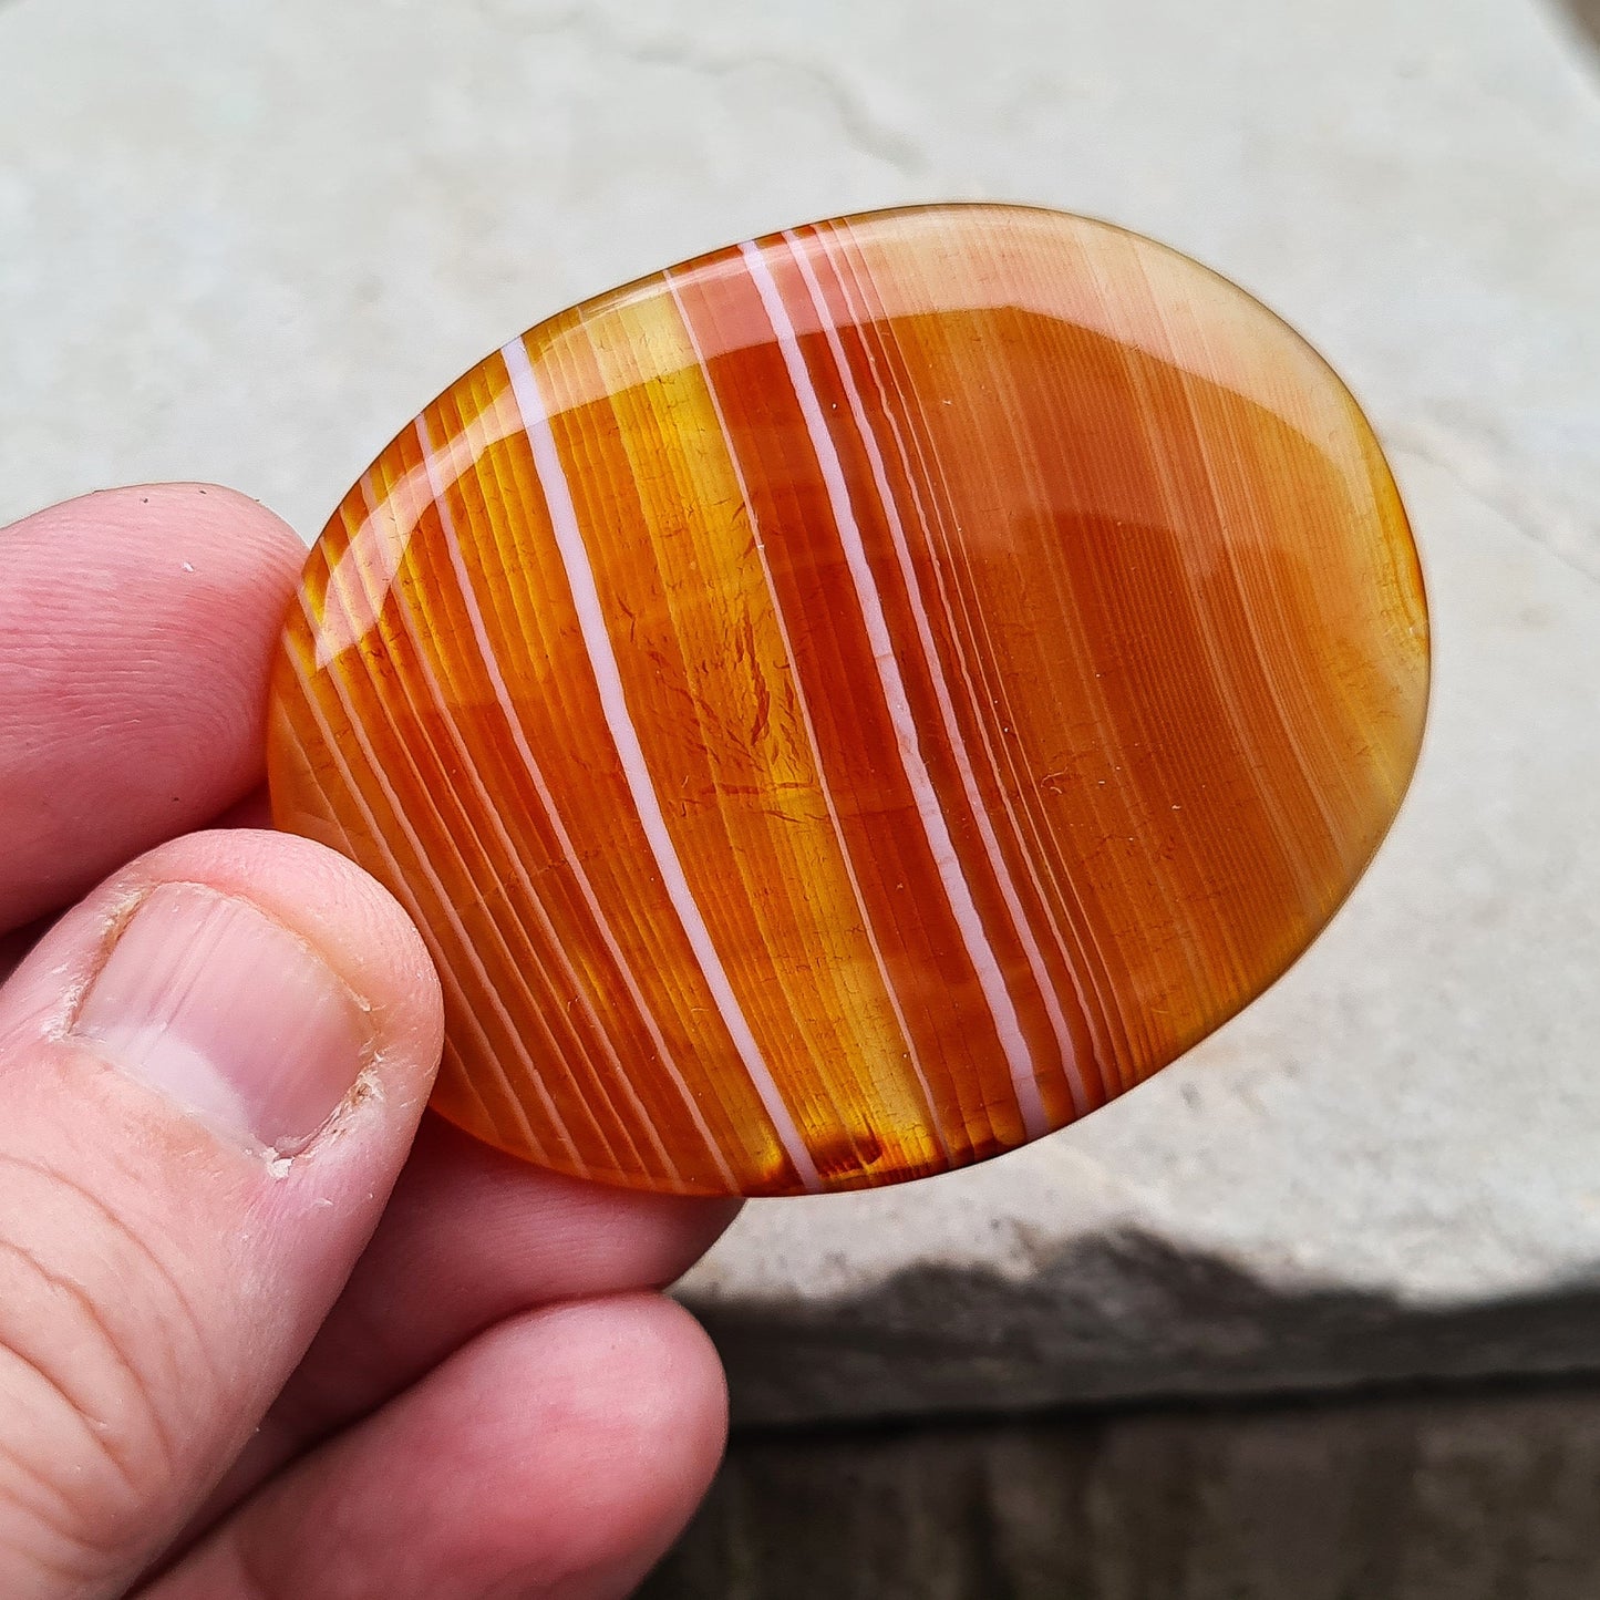
<svg viewBox="0 0 1600 1600">
<path fill-rule="evenodd" d="M 1587 3 L 1587 0 L 1582 0 Z M 234 483 L 307 536 L 558 307 L 1002 197 L 1232 275 L 1424 549 L 1416 789 L 1317 949 L 1082 1128 L 750 1206 L 742 1418 L 1600 1366 L 1600 74 L 1539 0 L 11 0 L 0 520 Z"/>
</svg>

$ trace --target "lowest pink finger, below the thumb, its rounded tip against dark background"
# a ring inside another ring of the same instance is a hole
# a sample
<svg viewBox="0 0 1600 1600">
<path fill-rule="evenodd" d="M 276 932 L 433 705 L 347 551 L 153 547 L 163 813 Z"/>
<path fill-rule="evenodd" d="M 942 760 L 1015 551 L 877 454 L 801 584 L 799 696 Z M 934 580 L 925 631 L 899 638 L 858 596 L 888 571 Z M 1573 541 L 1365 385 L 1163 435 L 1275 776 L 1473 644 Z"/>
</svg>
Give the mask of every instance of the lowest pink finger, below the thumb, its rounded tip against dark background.
<svg viewBox="0 0 1600 1600">
<path fill-rule="evenodd" d="M 656 1296 L 485 1333 L 243 1506 L 147 1600 L 603 1600 L 699 1502 L 726 1398 Z"/>
</svg>

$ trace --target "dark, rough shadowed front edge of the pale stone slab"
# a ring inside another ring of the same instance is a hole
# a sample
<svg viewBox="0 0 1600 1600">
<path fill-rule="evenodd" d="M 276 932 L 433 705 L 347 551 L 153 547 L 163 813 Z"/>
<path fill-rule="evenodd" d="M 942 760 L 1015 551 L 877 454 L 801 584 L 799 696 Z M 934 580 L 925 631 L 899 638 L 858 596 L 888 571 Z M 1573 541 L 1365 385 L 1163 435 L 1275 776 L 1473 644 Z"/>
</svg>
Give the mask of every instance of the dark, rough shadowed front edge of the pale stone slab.
<svg viewBox="0 0 1600 1600">
<path fill-rule="evenodd" d="M 1022 1282 L 922 1266 L 859 1298 L 691 1309 L 723 1354 L 744 1426 L 1600 1371 L 1595 1282 L 1410 1306 L 1288 1291 L 1136 1232 L 1042 1256 Z"/>
</svg>

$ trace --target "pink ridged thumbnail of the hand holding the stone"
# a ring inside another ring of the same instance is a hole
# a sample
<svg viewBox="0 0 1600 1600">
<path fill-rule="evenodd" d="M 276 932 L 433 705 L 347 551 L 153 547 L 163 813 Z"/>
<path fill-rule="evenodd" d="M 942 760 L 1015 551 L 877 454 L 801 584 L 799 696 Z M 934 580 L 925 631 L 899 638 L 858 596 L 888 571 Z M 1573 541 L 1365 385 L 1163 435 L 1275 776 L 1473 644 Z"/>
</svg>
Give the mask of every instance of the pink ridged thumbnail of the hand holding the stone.
<svg viewBox="0 0 1600 1600">
<path fill-rule="evenodd" d="M 213 1126 L 280 1152 L 338 1110 L 371 1050 L 365 1006 L 304 939 L 195 883 L 144 899 L 72 1034 Z"/>
</svg>

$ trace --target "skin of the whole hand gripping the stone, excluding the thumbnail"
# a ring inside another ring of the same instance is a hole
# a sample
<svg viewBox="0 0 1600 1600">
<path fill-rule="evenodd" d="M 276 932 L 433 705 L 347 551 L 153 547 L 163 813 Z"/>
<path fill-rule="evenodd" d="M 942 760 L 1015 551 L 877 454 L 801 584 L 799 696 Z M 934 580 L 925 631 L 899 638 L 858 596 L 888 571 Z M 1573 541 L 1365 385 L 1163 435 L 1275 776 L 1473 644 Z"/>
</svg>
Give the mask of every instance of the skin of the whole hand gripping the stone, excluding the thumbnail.
<svg viewBox="0 0 1600 1600">
<path fill-rule="evenodd" d="M 0 1594 L 627 1594 L 725 1435 L 715 1354 L 656 1290 L 734 1208 L 542 1173 L 424 1114 L 442 1024 L 414 930 L 264 829 L 304 555 L 283 523 L 146 486 L 0 550 Z M 318 952 L 371 1030 L 291 1162 L 74 1034 L 168 883 Z"/>
</svg>

